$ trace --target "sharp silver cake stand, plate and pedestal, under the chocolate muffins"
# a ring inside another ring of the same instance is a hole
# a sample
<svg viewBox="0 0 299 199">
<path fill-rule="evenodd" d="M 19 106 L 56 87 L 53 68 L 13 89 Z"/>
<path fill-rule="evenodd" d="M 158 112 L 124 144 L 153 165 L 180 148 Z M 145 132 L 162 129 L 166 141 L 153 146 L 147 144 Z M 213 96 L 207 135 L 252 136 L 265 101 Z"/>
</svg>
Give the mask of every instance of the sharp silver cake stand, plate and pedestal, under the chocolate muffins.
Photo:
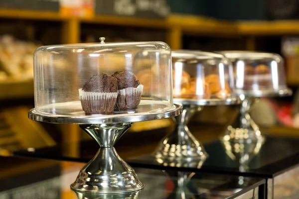
<svg viewBox="0 0 299 199">
<path fill-rule="evenodd" d="M 143 105 L 146 108 L 148 106 L 150 108 L 151 104 Z M 112 196 L 122 198 L 128 194 L 135 196 L 135 193 L 143 189 L 144 185 L 139 181 L 133 168 L 120 158 L 113 146 L 133 122 L 168 118 L 180 113 L 181 105 L 173 105 L 166 111 L 164 109 L 164 112 L 147 111 L 125 116 L 116 114 L 115 116 L 108 115 L 107 118 L 105 115 L 99 117 L 96 115 L 49 115 L 31 109 L 28 117 L 37 121 L 80 124 L 79 126 L 98 142 L 99 151 L 81 169 L 76 181 L 71 185 L 71 190 L 77 194 L 78 198 L 84 196 L 83 198 L 86 199 L 95 198 L 95 196 L 96 198 L 111 198 Z M 85 124 L 85 122 L 91 123 Z"/>
</svg>

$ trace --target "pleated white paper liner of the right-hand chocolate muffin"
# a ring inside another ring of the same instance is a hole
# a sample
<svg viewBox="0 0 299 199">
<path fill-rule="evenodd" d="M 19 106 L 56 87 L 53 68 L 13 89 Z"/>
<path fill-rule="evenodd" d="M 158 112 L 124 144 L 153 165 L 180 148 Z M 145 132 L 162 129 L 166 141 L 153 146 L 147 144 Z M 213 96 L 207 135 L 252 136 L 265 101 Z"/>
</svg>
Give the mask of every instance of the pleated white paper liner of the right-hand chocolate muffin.
<svg viewBox="0 0 299 199">
<path fill-rule="evenodd" d="M 140 103 L 143 85 L 139 85 L 137 88 L 126 88 L 118 90 L 118 96 L 116 101 L 116 110 L 128 110 L 137 108 Z"/>
</svg>

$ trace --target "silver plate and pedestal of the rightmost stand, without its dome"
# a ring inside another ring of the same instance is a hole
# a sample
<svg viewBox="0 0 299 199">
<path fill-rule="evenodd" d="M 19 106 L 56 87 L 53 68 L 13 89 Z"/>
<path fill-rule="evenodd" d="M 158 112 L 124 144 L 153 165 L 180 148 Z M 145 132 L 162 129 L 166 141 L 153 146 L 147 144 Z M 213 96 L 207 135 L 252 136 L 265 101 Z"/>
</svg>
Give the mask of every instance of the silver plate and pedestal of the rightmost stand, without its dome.
<svg viewBox="0 0 299 199">
<path fill-rule="evenodd" d="M 261 97 L 284 97 L 291 96 L 290 89 L 264 90 L 264 91 L 243 91 L 236 93 L 240 96 L 241 106 L 236 120 L 229 125 L 221 137 L 225 142 L 233 143 L 263 143 L 264 136 L 261 134 L 259 126 L 250 117 L 250 108 Z"/>
</svg>

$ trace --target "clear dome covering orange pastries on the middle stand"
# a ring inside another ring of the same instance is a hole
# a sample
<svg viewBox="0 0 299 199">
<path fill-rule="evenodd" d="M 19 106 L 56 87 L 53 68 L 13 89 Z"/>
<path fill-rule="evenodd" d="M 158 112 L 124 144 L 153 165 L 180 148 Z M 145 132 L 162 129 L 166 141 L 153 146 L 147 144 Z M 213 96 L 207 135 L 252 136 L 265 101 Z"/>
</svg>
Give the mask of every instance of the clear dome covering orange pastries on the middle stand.
<svg viewBox="0 0 299 199">
<path fill-rule="evenodd" d="M 236 100 L 231 62 L 222 54 L 192 50 L 172 51 L 173 98 L 196 101 Z"/>
</svg>

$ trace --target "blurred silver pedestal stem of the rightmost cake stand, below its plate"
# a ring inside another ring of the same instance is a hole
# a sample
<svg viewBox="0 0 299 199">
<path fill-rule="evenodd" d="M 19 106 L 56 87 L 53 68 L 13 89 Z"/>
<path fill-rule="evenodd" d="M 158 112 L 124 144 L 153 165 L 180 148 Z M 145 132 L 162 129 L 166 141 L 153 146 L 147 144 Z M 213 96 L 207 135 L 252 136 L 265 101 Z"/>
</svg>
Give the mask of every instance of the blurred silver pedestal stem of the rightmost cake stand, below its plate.
<svg viewBox="0 0 299 199">
<path fill-rule="evenodd" d="M 249 110 L 256 98 L 245 98 L 241 102 L 240 112 L 232 125 L 227 127 L 222 139 L 237 143 L 263 142 L 259 126 L 251 119 Z"/>
</svg>

